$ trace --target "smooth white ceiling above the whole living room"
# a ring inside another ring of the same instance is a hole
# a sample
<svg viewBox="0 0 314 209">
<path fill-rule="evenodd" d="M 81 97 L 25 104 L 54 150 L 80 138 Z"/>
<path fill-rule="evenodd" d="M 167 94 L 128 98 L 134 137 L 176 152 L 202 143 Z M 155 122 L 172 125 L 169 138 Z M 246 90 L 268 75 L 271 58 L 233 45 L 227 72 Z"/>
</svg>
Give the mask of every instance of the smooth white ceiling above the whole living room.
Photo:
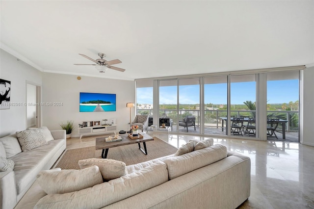
<svg viewBox="0 0 314 209">
<path fill-rule="evenodd" d="M 43 72 L 132 80 L 314 63 L 314 1 L 1 0 L 1 48 Z M 78 55 L 120 59 L 99 73 Z"/>
</svg>

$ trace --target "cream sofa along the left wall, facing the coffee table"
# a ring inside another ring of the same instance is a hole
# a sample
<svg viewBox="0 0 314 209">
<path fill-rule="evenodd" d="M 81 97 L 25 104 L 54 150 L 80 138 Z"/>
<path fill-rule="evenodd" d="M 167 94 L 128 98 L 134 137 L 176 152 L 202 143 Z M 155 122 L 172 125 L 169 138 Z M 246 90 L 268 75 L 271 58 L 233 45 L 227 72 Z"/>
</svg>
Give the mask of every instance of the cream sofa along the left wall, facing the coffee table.
<svg viewBox="0 0 314 209">
<path fill-rule="evenodd" d="M 0 209 L 14 208 L 34 183 L 37 174 L 50 169 L 61 156 L 66 148 L 66 132 L 51 131 L 51 135 L 53 139 L 46 145 L 26 152 L 22 152 L 16 134 L 0 138 L 7 159 L 15 164 L 13 171 L 0 172 Z"/>
</svg>

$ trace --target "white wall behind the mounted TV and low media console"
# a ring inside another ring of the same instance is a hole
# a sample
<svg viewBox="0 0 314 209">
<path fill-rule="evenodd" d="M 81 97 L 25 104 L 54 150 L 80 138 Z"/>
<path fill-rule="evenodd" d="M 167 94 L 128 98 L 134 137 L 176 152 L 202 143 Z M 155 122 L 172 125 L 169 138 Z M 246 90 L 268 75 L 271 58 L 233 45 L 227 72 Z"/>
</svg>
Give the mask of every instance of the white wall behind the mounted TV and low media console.
<svg viewBox="0 0 314 209">
<path fill-rule="evenodd" d="M 81 77 L 74 75 L 43 73 L 44 103 L 62 103 L 62 106 L 43 106 L 43 126 L 50 130 L 60 129 L 63 121 L 73 120 L 78 124 L 83 121 L 102 121 L 115 118 L 118 130 L 127 130 L 130 120 L 128 102 L 135 101 L 135 82 L 107 78 Z M 79 92 L 116 94 L 116 111 L 113 112 L 79 112 Z M 131 118 L 134 118 L 135 108 L 132 108 Z M 72 132 L 78 136 L 78 130 Z"/>
</svg>

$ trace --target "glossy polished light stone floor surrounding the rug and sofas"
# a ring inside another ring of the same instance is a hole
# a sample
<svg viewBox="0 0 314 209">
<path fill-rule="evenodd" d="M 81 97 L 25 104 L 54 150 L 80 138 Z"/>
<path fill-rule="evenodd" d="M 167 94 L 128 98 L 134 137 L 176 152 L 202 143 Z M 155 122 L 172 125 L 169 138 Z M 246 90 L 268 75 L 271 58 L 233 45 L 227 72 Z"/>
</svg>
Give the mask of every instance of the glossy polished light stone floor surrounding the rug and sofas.
<svg viewBox="0 0 314 209">
<path fill-rule="evenodd" d="M 208 138 L 153 131 L 149 134 L 178 148 L 190 139 Z M 101 136 L 69 139 L 67 149 L 95 146 L 95 138 Z M 314 209 L 314 147 L 223 138 L 214 138 L 214 144 L 251 158 L 251 196 L 240 209 Z"/>
</svg>

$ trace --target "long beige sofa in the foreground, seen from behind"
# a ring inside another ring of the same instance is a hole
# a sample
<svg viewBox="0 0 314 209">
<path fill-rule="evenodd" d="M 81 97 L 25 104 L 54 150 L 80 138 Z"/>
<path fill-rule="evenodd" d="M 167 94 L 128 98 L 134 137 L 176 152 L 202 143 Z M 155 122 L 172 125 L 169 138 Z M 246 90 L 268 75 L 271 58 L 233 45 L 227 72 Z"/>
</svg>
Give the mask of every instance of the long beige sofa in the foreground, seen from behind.
<svg viewBox="0 0 314 209">
<path fill-rule="evenodd" d="M 216 144 L 129 165 L 127 175 L 79 191 L 46 194 L 37 185 L 24 201 L 35 209 L 234 209 L 250 196 L 250 167 L 249 157 Z"/>
</svg>

